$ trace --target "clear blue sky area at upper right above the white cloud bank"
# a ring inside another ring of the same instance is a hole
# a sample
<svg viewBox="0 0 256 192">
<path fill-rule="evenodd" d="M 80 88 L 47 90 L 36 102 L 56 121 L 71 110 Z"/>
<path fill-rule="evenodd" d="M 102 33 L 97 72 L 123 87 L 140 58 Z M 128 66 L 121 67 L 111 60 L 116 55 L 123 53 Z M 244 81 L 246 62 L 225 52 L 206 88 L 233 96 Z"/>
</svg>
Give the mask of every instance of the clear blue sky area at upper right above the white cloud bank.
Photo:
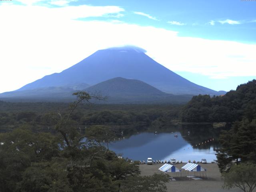
<svg viewBox="0 0 256 192">
<path fill-rule="evenodd" d="M 71 4 L 81 5 L 84 2 L 94 6 L 120 6 L 125 9 L 124 16 L 120 20 L 126 23 L 142 26 L 151 25 L 178 31 L 179 36 L 256 43 L 256 1 L 86 0 Z M 156 20 L 134 14 L 134 12 L 146 13 Z M 218 22 L 227 19 L 238 21 L 241 24 L 221 24 Z M 178 21 L 184 25 L 168 24 L 169 21 Z M 210 24 L 211 21 L 214 21 L 212 22 L 214 26 Z"/>
</svg>

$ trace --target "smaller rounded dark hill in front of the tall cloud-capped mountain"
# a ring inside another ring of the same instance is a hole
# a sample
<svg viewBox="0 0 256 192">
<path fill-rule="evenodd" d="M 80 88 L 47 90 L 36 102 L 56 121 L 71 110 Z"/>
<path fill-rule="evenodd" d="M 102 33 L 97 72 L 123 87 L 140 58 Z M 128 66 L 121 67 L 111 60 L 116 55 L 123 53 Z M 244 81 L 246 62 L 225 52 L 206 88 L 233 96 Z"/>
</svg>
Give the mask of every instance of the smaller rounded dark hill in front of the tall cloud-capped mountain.
<svg viewBox="0 0 256 192">
<path fill-rule="evenodd" d="M 86 91 L 107 96 L 106 103 L 184 103 L 192 98 L 192 95 L 167 94 L 140 80 L 121 77 L 101 82 Z"/>
</svg>

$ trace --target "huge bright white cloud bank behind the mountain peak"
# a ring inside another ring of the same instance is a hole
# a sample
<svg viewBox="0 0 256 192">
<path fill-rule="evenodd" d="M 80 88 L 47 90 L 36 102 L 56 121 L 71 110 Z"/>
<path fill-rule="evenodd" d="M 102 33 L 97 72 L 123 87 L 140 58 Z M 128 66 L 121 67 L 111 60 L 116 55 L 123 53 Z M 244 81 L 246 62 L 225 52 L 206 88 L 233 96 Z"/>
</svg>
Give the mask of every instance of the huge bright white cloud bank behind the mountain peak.
<svg viewBox="0 0 256 192">
<path fill-rule="evenodd" d="M 99 49 L 126 44 L 144 48 L 148 56 L 173 71 L 212 78 L 256 76 L 254 44 L 180 37 L 175 31 L 123 22 L 74 20 L 122 10 L 115 6 L 0 6 L 0 18 L 4 18 L 0 20 L 0 82 L 4 82 L 0 92 L 61 72 Z"/>
</svg>

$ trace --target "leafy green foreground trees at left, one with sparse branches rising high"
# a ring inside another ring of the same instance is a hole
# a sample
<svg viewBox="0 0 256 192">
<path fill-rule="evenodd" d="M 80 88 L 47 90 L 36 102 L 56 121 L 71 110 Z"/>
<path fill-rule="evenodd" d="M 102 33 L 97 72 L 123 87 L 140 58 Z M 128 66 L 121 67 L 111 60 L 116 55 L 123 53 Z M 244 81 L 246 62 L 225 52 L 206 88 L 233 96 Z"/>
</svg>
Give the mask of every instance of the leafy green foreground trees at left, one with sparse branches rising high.
<svg viewBox="0 0 256 192">
<path fill-rule="evenodd" d="M 92 96 L 75 93 L 68 112 L 48 114 L 55 134 L 23 125 L 0 134 L 0 191 L 166 192 L 165 174 L 140 176 L 138 162 L 119 158 L 102 144 L 114 130 L 94 125 L 81 132 L 72 118 Z"/>
</svg>

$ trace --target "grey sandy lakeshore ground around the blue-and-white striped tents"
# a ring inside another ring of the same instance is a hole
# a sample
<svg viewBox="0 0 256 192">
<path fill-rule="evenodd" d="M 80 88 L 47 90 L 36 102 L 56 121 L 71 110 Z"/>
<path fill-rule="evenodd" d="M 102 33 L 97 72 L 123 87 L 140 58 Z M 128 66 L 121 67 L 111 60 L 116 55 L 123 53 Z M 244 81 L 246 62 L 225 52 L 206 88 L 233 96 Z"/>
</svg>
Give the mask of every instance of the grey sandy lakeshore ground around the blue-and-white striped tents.
<svg viewBox="0 0 256 192">
<path fill-rule="evenodd" d="M 163 164 L 153 164 L 140 165 L 141 176 L 148 176 L 154 173 L 160 173 L 160 168 Z M 185 163 L 176 164 L 176 168 L 181 170 L 181 167 L 184 166 Z M 182 177 L 174 177 L 176 181 L 170 181 L 167 183 L 168 192 L 241 192 L 239 188 L 232 188 L 230 190 L 223 189 L 223 180 L 221 178 L 221 174 L 218 169 L 218 165 L 216 163 L 208 163 L 208 164 L 200 164 L 203 168 L 207 170 L 207 177 L 203 177 L 198 175 L 202 180 L 192 180 Z M 170 176 L 174 176 L 173 173 L 166 173 Z M 182 172 L 184 175 L 184 173 Z M 256 190 L 254 190 L 256 191 Z"/>
</svg>

